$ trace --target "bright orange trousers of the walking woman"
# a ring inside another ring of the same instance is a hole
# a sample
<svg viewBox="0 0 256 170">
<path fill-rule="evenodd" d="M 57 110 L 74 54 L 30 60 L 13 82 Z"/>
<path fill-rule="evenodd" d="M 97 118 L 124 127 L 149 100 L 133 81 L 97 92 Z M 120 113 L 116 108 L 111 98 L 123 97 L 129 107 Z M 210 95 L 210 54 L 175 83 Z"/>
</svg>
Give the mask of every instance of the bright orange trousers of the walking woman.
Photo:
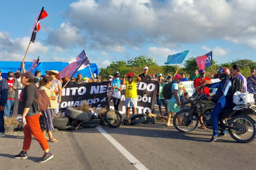
<svg viewBox="0 0 256 170">
<path fill-rule="evenodd" d="M 29 150 L 32 135 L 37 139 L 39 145 L 43 150 L 49 149 L 48 142 L 45 139 L 45 136 L 40 128 L 39 124 L 40 113 L 34 116 L 26 116 L 26 125 L 24 126 L 24 141 L 23 141 L 23 150 Z"/>
</svg>

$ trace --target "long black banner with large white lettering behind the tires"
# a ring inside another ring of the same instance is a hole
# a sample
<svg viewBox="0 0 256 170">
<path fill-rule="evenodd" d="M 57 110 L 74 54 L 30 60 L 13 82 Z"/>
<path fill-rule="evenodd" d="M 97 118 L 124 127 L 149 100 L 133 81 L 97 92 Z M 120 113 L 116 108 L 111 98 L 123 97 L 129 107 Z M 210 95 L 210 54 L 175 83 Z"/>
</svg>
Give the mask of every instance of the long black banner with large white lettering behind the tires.
<svg viewBox="0 0 256 170">
<path fill-rule="evenodd" d="M 65 112 L 67 107 L 81 106 L 84 101 L 88 102 L 92 107 L 105 107 L 107 96 L 107 85 L 109 81 L 92 82 L 83 84 L 67 85 L 62 90 L 61 102 L 59 104 L 59 111 Z M 142 79 L 137 83 L 137 108 L 136 114 L 154 112 L 154 104 L 156 99 L 158 83 L 156 81 Z M 19 90 L 20 91 L 20 90 Z M 19 93 L 16 93 L 17 95 Z M 17 114 L 18 96 L 15 96 L 14 110 Z M 113 101 L 110 102 L 110 108 L 114 109 Z M 125 108 L 125 85 L 121 91 L 121 100 L 119 104 L 120 114 L 126 113 Z M 132 109 L 130 109 L 132 113 Z M 19 113 L 22 114 L 22 113 Z"/>
</svg>

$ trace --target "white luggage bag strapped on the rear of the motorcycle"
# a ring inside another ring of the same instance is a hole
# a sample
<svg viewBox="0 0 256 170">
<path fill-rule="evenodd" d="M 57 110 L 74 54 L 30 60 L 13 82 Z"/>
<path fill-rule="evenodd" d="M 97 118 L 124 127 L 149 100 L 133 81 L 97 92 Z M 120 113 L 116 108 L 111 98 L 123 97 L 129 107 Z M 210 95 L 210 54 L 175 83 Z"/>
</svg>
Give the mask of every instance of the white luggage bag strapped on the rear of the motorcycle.
<svg viewBox="0 0 256 170">
<path fill-rule="evenodd" d="M 237 91 L 233 95 L 233 103 L 236 105 L 254 103 L 253 94 L 248 92 L 241 93 L 240 91 Z"/>
</svg>

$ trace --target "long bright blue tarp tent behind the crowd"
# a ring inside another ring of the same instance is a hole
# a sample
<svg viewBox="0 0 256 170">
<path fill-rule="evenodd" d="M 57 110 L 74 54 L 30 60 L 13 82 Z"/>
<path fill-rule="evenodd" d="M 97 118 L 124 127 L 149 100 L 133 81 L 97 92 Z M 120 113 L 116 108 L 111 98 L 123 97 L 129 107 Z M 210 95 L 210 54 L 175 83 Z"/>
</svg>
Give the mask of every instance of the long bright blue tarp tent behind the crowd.
<svg viewBox="0 0 256 170">
<path fill-rule="evenodd" d="M 7 78 L 7 73 L 9 71 L 15 72 L 16 70 L 20 70 L 20 63 L 21 62 L 0 62 L 0 69 L 2 72 L 2 77 Z M 28 70 L 33 62 L 25 62 L 25 69 Z M 62 62 L 39 62 L 37 67 L 32 71 L 32 73 L 35 73 L 35 71 L 39 70 L 41 72 L 41 75 L 45 75 L 45 71 L 47 70 L 57 70 L 61 71 L 63 68 L 65 68 L 69 63 L 62 63 Z M 95 73 L 96 75 L 100 74 L 100 69 L 97 67 L 95 63 L 91 63 L 90 69 L 92 73 Z M 75 76 L 77 74 L 82 74 L 83 77 L 89 77 L 91 78 L 91 72 L 89 67 L 86 67 L 83 70 L 79 70 L 75 73 Z"/>
</svg>

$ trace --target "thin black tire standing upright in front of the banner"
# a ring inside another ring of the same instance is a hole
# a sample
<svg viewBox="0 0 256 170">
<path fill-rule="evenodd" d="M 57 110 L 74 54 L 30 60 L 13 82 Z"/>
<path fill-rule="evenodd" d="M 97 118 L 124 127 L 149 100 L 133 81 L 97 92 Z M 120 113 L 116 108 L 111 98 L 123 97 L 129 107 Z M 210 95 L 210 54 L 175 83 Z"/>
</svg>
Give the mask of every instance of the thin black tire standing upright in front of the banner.
<svg viewBox="0 0 256 170">
<path fill-rule="evenodd" d="M 109 114 L 110 112 L 115 112 L 115 114 Z M 112 123 L 111 120 L 114 122 Z M 105 121 L 112 128 L 118 128 L 123 124 L 123 117 L 118 111 L 110 109 L 105 113 Z"/>
</svg>

